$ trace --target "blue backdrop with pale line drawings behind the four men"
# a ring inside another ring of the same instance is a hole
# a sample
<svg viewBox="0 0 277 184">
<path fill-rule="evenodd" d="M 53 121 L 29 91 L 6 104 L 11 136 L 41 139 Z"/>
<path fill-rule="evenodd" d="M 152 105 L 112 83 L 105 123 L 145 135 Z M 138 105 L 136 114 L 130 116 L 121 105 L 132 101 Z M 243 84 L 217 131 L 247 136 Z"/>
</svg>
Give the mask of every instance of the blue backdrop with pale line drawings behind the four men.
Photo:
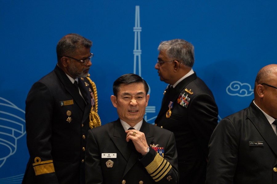
<svg viewBox="0 0 277 184">
<path fill-rule="evenodd" d="M 57 63 L 68 33 L 93 41 L 91 79 L 102 124 L 117 119 L 112 84 L 125 73 L 149 84 L 145 119 L 154 123 L 163 90 L 154 69 L 161 41 L 195 46 L 193 69 L 214 93 L 219 119 L 246 108 L 260 68 L 276 63 L 277 1 L 0 0 L 0 183 L 21 183 L 29 158 L 25 99 Z M 135 68 L 135 71 L 134 71 Z"/>
</svg>

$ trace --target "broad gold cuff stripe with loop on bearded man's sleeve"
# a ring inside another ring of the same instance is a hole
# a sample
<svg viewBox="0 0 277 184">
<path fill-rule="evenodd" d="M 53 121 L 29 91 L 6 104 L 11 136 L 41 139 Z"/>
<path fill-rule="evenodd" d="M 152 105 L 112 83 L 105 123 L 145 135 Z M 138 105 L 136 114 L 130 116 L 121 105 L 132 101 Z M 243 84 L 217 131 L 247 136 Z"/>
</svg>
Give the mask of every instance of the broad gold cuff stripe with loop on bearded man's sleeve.
<svg viewBox="0 0 277 184">
<path fill-rule="evenodd" d="M 34 167 L 36 176 L 40 174 L 55 172 L 53 160 L 46 160 L 41 162 L 41 159 L 39 157 L 36 157 L 34 159 L 33 167 Z"/>
</svg>

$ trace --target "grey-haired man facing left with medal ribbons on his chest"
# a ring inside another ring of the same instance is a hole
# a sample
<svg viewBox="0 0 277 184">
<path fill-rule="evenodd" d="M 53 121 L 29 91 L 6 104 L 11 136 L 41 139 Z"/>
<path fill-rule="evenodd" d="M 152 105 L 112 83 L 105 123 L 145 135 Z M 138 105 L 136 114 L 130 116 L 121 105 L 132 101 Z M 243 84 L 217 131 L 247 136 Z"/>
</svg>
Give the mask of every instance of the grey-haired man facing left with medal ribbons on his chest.
<svg viewBox="0 0 277 184">
<path fill-rule="evenodd" d="M 214 96 L 192 69 L 191 43 L 182 39 L 163 41 L 158 50 L 155 69 L 168 86 L 155 123 L 175 135 L 180 181 L 203 184 L 208 143 L 218 120 Z"/>
</svg>

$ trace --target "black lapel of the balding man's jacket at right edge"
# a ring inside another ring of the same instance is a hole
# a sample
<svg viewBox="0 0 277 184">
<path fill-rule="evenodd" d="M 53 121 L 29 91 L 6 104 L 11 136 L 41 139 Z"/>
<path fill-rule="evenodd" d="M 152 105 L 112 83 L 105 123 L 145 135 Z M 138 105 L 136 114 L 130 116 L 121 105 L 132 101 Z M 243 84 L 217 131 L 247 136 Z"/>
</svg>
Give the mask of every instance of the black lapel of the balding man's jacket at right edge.
<svg viewBox="0 0 277 184">
<path fill-rule="evenodd" d="M 251 120 L 253 125 L 262 135 L 263 139 L 267 142 L 272 151 L 277 155 L 277 136 L 273 131 L 267 118 L 264 116 L 263 112 L 252 102 L 249 106 L 251 115 L 246 115 L 247 118 Z"/>
</svg>

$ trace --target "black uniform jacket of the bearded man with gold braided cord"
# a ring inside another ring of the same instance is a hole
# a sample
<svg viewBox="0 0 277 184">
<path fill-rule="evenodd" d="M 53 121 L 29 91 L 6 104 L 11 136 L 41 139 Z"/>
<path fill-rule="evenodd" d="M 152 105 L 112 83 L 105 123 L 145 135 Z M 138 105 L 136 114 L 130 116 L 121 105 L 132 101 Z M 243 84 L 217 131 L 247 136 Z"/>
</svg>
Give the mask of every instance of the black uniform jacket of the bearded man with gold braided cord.
<svg viewBox="0 0 277 184">
<path fill-rule="evenodd" d="M 22 183 L 84 183 L 82 160 L 92 106 L 90 82 L 82 79 L 79 88 L 86 104 L 58 66 L 30 89 L 26 99 L 30 159 Z"/>
</svg>

